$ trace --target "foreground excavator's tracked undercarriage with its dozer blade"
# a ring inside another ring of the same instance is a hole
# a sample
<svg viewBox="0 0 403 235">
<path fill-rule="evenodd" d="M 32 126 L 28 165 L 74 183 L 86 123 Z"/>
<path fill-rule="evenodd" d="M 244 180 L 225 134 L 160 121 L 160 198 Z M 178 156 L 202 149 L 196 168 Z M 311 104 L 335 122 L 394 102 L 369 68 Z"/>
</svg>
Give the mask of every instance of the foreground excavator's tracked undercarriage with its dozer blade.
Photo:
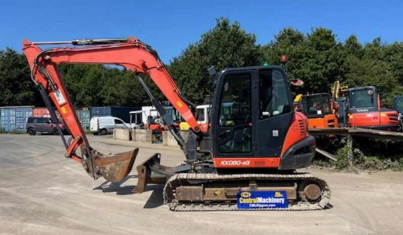
<svg viewBox="0 0 403 235">
<path fill-rule="evenodd" d="M 184 161 L 167 167 L 160 160 L 161 155 L 156 153 L 137 166 L 138 182 L 132 193 L 142 193 L 148 184 L 165 185 L 164 202 L 174 211 L 238 210 L 238 193 L 249 191 L 286 192 L 287 208 L 258 210 L 317 210 L 326 208 L 330 201 L 326 182 L 310 173 L 294 170 L 217 173 L 215 168 L 203 168 L 208 162 L 191 165 Z"/>
</svg>

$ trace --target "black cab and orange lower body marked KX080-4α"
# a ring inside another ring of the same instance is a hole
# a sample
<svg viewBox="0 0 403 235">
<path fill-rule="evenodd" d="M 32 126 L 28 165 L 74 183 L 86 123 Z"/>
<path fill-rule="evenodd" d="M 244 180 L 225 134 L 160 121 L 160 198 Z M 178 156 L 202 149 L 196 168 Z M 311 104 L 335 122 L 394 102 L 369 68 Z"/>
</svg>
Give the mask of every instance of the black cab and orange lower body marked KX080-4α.
<svg viewBox="0 0 403 235">
<path fill-rule="evenodd" d="M 314 149 L 307 146 L 315 140 L 305 129 L 299 129 L 299 122 L 303 125 L 304 121 L 298 121 L 292 105 L 288 79 L 281 67 L 224 70 L 212 105 L 215 166 L 290 168 L 280 160 L 290 143 L 296 142 L 299 145 L 294 150 L 303 149 L 298 167 L 306 166 L 314 155 Z M 298 129 L 290 128 L 293 125 Z"/>
</svg>

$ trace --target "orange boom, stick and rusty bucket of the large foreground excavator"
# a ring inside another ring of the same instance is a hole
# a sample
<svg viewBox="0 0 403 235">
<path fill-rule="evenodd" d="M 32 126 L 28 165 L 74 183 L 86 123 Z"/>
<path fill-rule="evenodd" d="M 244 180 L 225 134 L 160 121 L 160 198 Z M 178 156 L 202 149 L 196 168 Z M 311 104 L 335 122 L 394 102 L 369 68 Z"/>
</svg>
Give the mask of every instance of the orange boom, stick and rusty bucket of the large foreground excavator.
<svg viewBox="0 0 403 235">
<path fill-rule="evenodd" d="M 53 47 L 42 50 L 41 44 L 73 44 L 78 47 Z M 157 52 L 149 45 L 134 37 L 118 39 L 80 39 L 63 42 L 30 42 L 23 41 L 23 50 L 31 68 L 31 77 L 38 86 L 46 107 L 56 121 L 53 105 L 59 110 L 63 121 L 68 127 L 71 138 L 67 142 L 65 157 L 81 162 L 84 169 L 94 179 L 104 177 L 111 182 L 122 180 L 131 171 L 138 149 L 115 155 L 104 155 L 92 149 L 80 125 L 73 103 L 58 70 L 60 64 L 102 64 L 119 65 L 132 73 L 145 74 L 159 87 L 166 98 L 172 103 L 183 119 L 190 125 L 194 133 L 201 128 L 189 108 L 190 102 L 181 94 L 178 86 L 169 75 Z M 164 121 L 171 126 L 170 131 L 177 139 L 185 155 L 187 150 L 183 139 L 173 127 L 169 115 L 164 115 L 164 108 L 148 87 L 137 76 L 146 89 L 151 101 L 160 111 Z M 60 132 L 61 133 L 61 132 Z M 76 153 L 81 150 L 81 156 Z"/>
</svg>

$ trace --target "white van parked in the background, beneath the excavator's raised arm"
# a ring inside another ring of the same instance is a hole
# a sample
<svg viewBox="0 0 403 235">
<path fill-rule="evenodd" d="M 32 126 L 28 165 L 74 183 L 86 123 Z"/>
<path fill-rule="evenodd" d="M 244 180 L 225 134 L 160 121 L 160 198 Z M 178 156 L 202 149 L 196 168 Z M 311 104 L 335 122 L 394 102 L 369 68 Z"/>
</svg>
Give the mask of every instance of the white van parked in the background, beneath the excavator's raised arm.
<svg viewBox="0 0 403 235">
<path fill-rule="evenodd" d="M 89 122 L 89 130 L 94 135 L 106 135 L 115 128 L 130 128 L 130 125 L 114 116 L 94 116 Z"/>
</svg>

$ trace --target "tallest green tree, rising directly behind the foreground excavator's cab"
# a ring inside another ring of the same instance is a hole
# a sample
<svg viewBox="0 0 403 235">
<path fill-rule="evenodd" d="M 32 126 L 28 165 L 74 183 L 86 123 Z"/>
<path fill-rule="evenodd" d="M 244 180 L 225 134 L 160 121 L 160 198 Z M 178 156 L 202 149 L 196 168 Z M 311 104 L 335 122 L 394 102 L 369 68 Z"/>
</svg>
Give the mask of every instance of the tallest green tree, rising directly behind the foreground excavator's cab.
<svg viewBox="0 0 403 235">
<path fill-rule="evenodd" d="M 255 35 L 246 33 L 238 22 L 230 24 L 228 19 L 220 18 L 215 28 L 173 58 L 169 71 L 187 98 L 202 103 L 213 86 L 206 79 L 207 69 L 258 65 L 260 51 L 255 43 Z"/>
</svg>

